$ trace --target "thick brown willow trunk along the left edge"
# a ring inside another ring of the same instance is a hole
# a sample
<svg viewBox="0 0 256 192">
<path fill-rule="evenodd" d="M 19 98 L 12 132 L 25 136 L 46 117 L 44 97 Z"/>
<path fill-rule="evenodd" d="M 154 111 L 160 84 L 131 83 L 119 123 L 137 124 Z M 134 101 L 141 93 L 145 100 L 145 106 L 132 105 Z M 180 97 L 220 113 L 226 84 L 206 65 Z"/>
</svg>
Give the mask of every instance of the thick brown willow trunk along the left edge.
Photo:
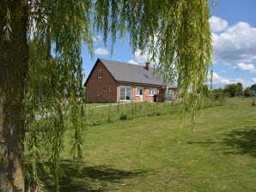
<svg viewBox="0 0 256 192">
<path fill-rule="evenodd" d="M 27 0 L 0 0 L 0 192 L 25 191 L 22 100 L 27 57 Z"/>
</svg>

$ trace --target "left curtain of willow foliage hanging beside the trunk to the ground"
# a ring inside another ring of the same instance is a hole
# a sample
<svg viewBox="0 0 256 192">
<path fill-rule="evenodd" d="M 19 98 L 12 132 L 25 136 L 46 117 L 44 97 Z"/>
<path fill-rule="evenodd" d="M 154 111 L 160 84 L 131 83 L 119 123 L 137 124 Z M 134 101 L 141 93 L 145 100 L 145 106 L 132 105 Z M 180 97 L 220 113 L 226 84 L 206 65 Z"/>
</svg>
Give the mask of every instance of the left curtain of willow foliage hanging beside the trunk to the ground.
<svg viewBox="0 0 256 192">
<path fill-rule="evenodd" d="M 82 158 L 84 91 L 82 42 L 92 49 L 90 1 L 31 1 L 29 63 L 25 114 L 27 116 L 27 184 L 40 188 L 38 169 L 52 165 L 56 191 L 63 150 L 64 119 L 73 131 L 72 154 Z"/>
</svg>

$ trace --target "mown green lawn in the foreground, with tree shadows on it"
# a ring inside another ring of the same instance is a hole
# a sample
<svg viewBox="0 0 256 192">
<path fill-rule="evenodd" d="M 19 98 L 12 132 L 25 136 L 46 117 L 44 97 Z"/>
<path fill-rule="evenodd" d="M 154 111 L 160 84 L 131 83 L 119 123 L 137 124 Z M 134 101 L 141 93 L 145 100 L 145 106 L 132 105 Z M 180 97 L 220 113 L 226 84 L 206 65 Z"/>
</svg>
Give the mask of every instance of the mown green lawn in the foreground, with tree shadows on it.
<svg viewBox="0 0 256 192">
<path fill-rule="evenodd" d="M 190 114 L 182 131 L 178 114 L 88 127 L 80 171 L 65 147 L 61 191 L 256 191 L 251 102 L 229 99 L 204 110 L 195 132 Z"/>
</svg>

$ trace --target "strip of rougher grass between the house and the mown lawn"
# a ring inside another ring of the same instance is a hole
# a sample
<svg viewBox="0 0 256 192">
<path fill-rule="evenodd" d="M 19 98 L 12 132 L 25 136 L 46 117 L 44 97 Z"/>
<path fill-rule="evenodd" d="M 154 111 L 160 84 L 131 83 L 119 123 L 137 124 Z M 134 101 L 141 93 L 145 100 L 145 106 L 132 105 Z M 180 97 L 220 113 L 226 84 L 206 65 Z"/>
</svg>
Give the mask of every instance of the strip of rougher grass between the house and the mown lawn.
<svg viewBox="0 0 256 192">
<path fill-rule="evenodd" d="M 223 99 L 213 101 L 205 100 L 205 107 L 222 105 Z M 117 104 L 88 104 L 85 111 L 88 126 L 113 123 L 119 120 L 134 119 L 138 117 L 153 117 L 174 115 L 179 112 L 176 103 L 117 103 Z"/>
</svg>

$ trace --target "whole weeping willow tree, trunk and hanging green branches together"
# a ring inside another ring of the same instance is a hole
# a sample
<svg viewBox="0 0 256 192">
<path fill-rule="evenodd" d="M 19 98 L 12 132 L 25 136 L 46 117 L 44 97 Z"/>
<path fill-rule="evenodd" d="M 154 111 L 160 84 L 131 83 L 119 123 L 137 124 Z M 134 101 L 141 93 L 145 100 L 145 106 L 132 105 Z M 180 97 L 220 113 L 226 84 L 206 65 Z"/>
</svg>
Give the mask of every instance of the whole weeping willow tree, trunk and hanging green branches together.
<svg viewBox="0 0 256 192">
<path fill-rule="evenodd" d="M 39 170 L 59 190 L 61 152 L 72 127 L 72 154 L 82 159 L 82 43 L 94 32 L 113 44 L 149 51 L 181 106 L 196 111 L 211 57 L 207 0 L 0 0 L 0 191 L 40 191 Z M 24 147 L 26 145 L 26 169 Z M 46 164 L 47 162 L 47 164 Z"/>
</svg>

